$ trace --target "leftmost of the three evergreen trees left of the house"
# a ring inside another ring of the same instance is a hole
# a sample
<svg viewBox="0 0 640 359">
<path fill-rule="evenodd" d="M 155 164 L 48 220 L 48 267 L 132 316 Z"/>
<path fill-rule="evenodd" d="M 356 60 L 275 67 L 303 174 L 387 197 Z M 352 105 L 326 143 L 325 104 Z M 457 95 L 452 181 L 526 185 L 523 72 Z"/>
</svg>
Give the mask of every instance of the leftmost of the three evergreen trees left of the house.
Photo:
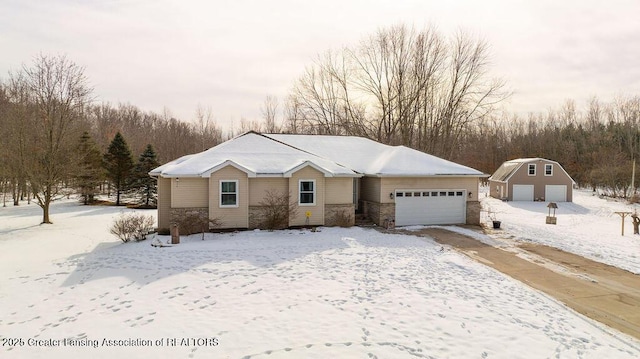
<svg viewBox="0 0 640 359">
<path fill-rule="evenodd" d="M 96 142 L 86 131 L 80 137 L 78 154 L 80 155 L 80 167 L 76 175 L 78 188 L 80 189 L 83 203 L 91 204 L 95 200 L 97 187 L 105 176 L 102 154 Z"/>
</svg>

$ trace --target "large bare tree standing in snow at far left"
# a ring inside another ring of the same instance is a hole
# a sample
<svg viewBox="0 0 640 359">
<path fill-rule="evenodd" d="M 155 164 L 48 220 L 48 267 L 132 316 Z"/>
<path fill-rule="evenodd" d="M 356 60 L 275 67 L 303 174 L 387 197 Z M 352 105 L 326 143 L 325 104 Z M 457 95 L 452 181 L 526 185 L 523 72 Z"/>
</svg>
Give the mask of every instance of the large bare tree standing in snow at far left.
<svg viewBox="0 0 640 359">
<path fill-rule="evenodd" d="M 34 109 L 18 119 L 29 128 L 24 170 L 42 208 L 42 223 L 51 223 L 49 206 L 76 168 L 76 139 L 82 133 L 82 112 L 92 89 L 84 69 L 64 56 L 39 55 L 30 67 L 10 74 L 10 83 L 25 89 Z"/>
</svg>

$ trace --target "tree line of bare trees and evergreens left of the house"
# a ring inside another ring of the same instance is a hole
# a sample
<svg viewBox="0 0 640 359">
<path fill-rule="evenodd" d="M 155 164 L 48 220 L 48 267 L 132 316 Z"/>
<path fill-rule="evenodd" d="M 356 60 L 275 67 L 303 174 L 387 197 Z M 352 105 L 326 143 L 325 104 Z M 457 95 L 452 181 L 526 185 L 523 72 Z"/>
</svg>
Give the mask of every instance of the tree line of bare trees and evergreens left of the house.
<svg viewBox="0 0 640 359">
<path fill-rule="evenodd" d="M 147 173 L 223 140 L 210 111 L 195 123 L 165 111 L 143 112 L 130 104 L 93 103 L 84 68 L 65 56 L 37 56 L 0 82 L 0 189 L 13 204 L 33 200 L 51 223 L 49 206 L 69 191 L 90 203 L 101 187 L 132 189 L 146 205 L 155 201 Z M 131 144 L 131 148 L 129 148 Z M 138 162 L 132 153 L 140 154 Z M 103 186 L 104 185 L 104 186 Z"/>
</svg>

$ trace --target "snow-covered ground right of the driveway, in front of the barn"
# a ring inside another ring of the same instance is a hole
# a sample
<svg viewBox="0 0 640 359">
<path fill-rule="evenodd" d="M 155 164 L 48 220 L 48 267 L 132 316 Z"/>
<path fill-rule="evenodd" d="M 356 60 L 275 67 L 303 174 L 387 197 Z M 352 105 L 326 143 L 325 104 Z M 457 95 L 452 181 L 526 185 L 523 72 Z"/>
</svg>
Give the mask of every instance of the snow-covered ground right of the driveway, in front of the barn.
<svg viewBox="0 0 640 359">
<path fill-rule="evenodd" d="M 574 190 L 573 203 L 557 203 L 557 224 L 545 224 L 549 209 L 546 202 L 502 202 L 485 197 L 481 202 L 500 220 L 501 230 L 491 238 L 508 245 L 529 241 L 640 274 L 640 236 L 633 234 L 629 216 L 622 220 L 615 212 L 634 212 L 638 205 L 599 198 L 588 190 Z M 489 223 L 487 212 L 484 221 Z M 494 242 L 495 244 L 495 242 Z"/>
</svg>

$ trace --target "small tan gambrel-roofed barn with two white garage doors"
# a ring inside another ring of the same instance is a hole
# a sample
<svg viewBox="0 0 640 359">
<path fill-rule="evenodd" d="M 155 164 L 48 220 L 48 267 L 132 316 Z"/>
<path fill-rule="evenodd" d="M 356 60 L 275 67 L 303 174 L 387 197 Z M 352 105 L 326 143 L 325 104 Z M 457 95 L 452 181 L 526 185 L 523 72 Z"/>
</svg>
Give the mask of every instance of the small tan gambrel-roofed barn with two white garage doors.
<svg viewBox="0 0 640 359">
<path fill-rule="evenodd" d="M 571 202 L 575 181 L 556 161 L 506 161 L 489 177 L 491 197 L 508 201 Z"/>
</svg>

